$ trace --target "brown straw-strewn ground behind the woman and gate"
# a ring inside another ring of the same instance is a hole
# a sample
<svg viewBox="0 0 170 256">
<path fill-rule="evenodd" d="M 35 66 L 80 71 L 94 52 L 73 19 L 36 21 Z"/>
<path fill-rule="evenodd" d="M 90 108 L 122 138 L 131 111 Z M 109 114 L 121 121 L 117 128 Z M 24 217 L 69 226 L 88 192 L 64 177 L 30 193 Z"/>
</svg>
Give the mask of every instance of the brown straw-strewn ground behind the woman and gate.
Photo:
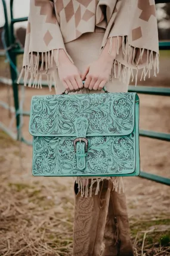
<svg viewBox="0 0 170 256">
<path fill-rule="evenodd" d="M 170 67 L 169 62 L 164 61 L 157 86 L 163 85 L 163 81 L 164 86 L 169 86 L 168 65 Z M 151 80 L 150 85 L 154 81 Z M 10 99 L 12 106 L 11 89 L 1 86 L 0 92 L 0 100 L 8 103 Z M 49 94 L 49 91 L 26 88 L 24 110 L 29 111 L 32 95 L 40 94 Z M 170 132 L 169 97 L 139 96 L 140 128 Z M 15 131 L 15 122 L 11 122 L 13 115 L 0 109 L 0 121 Z M 23 136 L 31 140 L 29 117 L 23 121 Z M 73 179 L 33 177 L 32 147 L 11 140 L 4 132 L 0 132 L 0 142 L 0 255 L 72 255 Z M 170 177 L 167 141 L 140 137 L 140 156 L 141 170 Z M 169 186 L 141 177 L 123 180 L 135 256 L 170 255 Z"/>
</svg>

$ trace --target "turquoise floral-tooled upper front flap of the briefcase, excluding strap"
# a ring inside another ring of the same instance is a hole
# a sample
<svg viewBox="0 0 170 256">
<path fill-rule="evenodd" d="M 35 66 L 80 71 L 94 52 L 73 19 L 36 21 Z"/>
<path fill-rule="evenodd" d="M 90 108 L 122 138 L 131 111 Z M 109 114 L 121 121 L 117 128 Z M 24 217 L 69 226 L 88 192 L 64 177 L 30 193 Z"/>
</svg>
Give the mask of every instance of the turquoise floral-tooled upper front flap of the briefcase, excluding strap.
<svg viewBox="0 0 170 256">
<path fill-rule="evenodd" d="M 88 119 L 86 135 L 127 135 L 134 127 L 133 93 L 48 95 L 32 98 L 30 134 L 76 136 L 73 122 Z"/>
</svg>

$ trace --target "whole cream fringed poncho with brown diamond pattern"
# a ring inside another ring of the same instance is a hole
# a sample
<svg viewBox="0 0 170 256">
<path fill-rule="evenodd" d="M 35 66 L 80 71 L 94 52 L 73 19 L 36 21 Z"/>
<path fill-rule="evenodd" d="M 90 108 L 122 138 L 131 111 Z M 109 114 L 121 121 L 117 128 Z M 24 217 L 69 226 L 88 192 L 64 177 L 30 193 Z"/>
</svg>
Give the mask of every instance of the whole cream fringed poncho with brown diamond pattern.
<svg viewBox="0 0 170 256">
<path fill-rule="evenodd" d="M 154 76 L 159 72 L 154 0 L 30 0 L 23 69 L 18 82 L 24 71 L 24 85 L 41 88 L 42 74 L 47 74 L 50 90 L 54 85 L 57 92 L 58 50 L 66 52 L 64 43 L 97 31 L 104 31 L 100 53 L 107 40 L 110 53 L 112 38 L 117 38 L 110 80 L 115 77 L 124 82 L 129 69 L 137 84 L 139 69 L 142 69 L 141 80 L 147 74 L 150 77 L 151 70 Z M 122 40 L 120 49 L 119 40 Z M 73 62 L 68 53 L 67 56 Z"/>
</svg>

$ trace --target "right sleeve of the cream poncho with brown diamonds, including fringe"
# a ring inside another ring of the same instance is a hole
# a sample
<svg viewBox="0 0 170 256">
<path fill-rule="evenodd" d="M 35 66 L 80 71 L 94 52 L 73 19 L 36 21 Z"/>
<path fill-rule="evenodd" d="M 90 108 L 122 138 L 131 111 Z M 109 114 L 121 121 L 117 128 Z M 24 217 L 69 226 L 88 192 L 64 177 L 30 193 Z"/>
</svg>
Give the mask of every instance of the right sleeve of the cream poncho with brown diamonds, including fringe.
<svg viewBox="0 0 170 256">
<path fill-rule="evenodd" d="M 124 80 L 126 71 L 130 70 L 132 80 L 135 77 L 135 85 L 137 85 L 140 69 L 142 69 L 141 80 L 145 80 L 147 75 L 150 77 L 151 71 L 153 76 L 156 76 L 159 73 L 159 41 L 154 1 L 114 0 L 114 4 L 109 0 L 106 2 L 107 27 L 101 52 L 109 40 L 108 53 L 110 53 L 113 37 L 117 38 L 117 54 L 113 63 L 112 77 Z"/>
</svg>

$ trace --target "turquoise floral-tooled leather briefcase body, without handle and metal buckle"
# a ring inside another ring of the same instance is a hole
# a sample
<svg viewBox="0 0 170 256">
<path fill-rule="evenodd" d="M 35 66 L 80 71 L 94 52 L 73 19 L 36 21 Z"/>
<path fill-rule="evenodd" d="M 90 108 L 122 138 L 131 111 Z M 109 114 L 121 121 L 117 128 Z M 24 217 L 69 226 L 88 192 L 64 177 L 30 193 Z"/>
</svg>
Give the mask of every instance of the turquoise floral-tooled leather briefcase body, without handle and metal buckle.
<svg viewBox="0 0 170 256">
<path fill-rule="evenodd" d="M 29 122 L 32 173 L 137 176 L 138 125 L 139 98 L 135 92 L 33 96 Z M 74 148 L 76 138 L 84 141 L 78 139 Z"/>
</svg>

